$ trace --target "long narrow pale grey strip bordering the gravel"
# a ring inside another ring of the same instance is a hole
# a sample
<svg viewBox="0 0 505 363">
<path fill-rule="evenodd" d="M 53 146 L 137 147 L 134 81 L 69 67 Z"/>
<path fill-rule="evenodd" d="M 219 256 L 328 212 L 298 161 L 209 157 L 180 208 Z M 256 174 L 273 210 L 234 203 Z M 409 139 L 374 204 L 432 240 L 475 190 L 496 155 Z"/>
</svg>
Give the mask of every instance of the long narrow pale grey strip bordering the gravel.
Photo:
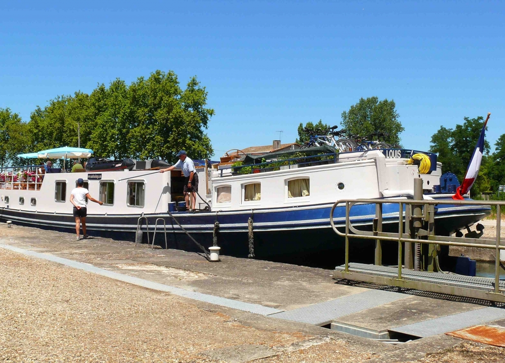
<svg viewBox="0 0 505 363">
<path fill-rule="evenodd" d="M 91 272 L 91 273 L 94 273 L 97 275 L 102 275 L 105 277 L 110 277 L 115 280 L 128 282 L 128 283 L 131 283 L 134 285 L 150 288 L 153 290 L 166 291 L 166 292 L 170 292 L 174 295 L 187 297 L 187 298 L 190 298 L 193 300 L 209 302 L 210 304 L 220 305 L 220 306 L 224 306 L 227 308 L 246 311 L 249 313 L 255 313 L 255 314 L 260 314 L 260 315 L 270 315 L 270 314 L 282 312 L 282 310 L 265 307 L 263 305 L 250 304 L 249 302 L 237 301 L 237 300 L 232 300 L 232 299 L 225 298 L 225 297 L 213 296 L 213 295 L 204 294 L 204 293 L 200 293 L 200 292 L 194 292 L 194 291 L 188 291 L 188 290 L 184 290 L 179 287 L 169 286 L 169 285 L 161 284 L 158 282 L 144 280 L 144 279 L 141 279 L 138 277 L 133 277 L 133 276 L 124 275 L 124 274 L 113 272 L 113 271 L 104 270 L 104 269 L 95 267 L 93 265 L 87 264 L 87 263 L 68 260 L 68 259 L 57 257 L 54 255 L 24 250 L 24 249 L 20 249 L 18 247 L 10 246 L 10 245 L 0 244 L 0 248 L 3 248 L 5 250 L 9 250 L 9 251 L 14 251 L 17 253 L 21 253 L 21 254 L 27 255 L 27 256 L 32 256 L 32 257 L 44 259 L 47 261 L 57 262 L 59 264 L 65 265 L 65 266 L 73 267 L 73 268 L 76 268 L 79 270 Z"/>
</svg>

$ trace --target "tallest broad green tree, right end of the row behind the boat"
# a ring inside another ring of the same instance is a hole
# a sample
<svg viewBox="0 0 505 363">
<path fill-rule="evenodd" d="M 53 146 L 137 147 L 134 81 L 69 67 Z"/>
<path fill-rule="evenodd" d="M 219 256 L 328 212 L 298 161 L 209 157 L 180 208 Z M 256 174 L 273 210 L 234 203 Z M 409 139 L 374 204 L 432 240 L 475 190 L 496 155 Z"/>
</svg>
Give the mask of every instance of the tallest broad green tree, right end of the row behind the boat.
<svg viewBox="0 0 505 363">
<path fill-rule="evenodd" d="M 181 149 L 193 158 L 214 153 L 204 129 L 214 115 L 196 77 L 182 90 L 174 72 L 156 71 L 130 86 L 99 85 L 90 95 L 95 118 L 88 147 L 99 156 L 158 158 L 174 162 Z"/>
</svg>

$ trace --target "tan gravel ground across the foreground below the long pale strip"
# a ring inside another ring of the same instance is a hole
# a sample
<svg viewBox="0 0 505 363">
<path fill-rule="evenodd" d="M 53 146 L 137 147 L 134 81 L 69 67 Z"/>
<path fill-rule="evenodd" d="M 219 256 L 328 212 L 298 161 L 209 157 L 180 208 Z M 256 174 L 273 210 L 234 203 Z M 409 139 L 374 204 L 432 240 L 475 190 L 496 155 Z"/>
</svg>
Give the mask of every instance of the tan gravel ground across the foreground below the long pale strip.
<svg viewBox="0 0 505 363">
<path fill-rule="evenodd" d="M 3 363 L 505 361 L 505 349 L 465 341 L 391 350 L 282 324 L 0 249 Z M 397 359 L 402 350 L 411 358 Z"/>
</svg>

